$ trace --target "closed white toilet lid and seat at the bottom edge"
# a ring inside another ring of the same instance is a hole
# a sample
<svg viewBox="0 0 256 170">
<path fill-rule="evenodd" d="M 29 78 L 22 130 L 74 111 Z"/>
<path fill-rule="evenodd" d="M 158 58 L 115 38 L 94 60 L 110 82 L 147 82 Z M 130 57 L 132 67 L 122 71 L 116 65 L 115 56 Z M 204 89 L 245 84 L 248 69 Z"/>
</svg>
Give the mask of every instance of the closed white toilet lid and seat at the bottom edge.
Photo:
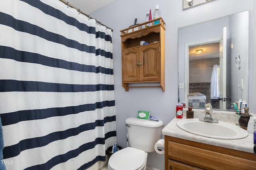
<svg viewBox="0 0 256 170">
<path fill-rule="evenodd" d="M 111 170 L 142 170 L 146 166 L 147 153 L 143 150 L 127 147 L 112 154 L 108 160 Z"/>
</svg>

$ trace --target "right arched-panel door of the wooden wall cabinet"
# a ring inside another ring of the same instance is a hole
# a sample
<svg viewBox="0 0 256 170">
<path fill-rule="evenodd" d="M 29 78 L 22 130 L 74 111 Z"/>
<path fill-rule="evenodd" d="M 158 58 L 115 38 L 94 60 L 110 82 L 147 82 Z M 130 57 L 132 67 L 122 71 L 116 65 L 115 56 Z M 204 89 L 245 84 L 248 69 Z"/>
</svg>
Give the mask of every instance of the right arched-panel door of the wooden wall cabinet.
<svg viewBox="0 0 256 170">
<path fill-rule="evenodd" d="M 140 81 L 160 80 L 160 44 L 140 47 Z"/>
</svg>

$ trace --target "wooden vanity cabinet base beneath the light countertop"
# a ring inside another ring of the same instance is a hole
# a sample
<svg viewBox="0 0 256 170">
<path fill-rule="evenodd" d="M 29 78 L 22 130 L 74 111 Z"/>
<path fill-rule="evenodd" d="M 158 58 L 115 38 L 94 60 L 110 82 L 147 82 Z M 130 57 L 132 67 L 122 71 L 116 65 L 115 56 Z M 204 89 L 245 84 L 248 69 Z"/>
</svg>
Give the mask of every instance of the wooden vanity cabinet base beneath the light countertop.
<svg viewBox="0 0 256 170">
<path fill-rule="evenodd" d="M 253 153 L 165 136 L 165 170 L 256 170 Z"/>
</svg>

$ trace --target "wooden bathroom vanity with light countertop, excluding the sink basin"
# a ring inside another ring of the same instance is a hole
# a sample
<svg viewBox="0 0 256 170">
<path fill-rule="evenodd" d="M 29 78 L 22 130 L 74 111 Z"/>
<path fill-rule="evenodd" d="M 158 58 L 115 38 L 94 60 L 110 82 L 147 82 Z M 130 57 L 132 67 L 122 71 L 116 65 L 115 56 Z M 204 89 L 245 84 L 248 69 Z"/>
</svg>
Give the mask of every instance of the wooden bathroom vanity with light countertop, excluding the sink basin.
<svg viewBox="0 0 256 170">
<path fill-rule="evenodd" d="M 225 116 L 233 119 L 232 114 Z M 186 119 L 186 114 L 183 119 Z M 232 140 L 203 137 L 180 129 L 176 125 L 179 120 L 175 117 L 162 130 L 165 135 L 165 170 L 256 170 L 252 134 Z"/>
</svg>

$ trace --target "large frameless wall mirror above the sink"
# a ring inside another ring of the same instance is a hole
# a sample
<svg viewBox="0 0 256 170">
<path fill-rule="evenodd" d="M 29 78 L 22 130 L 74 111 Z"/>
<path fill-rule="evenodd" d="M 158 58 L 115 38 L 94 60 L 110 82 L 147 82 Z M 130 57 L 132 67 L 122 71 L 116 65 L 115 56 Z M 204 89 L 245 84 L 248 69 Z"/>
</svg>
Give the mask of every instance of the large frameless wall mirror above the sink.
<svg viewBox="0 0 256 170">
<path fill-rule="evenodd" d="M 179 102 L 215 109 L 248 102 L 248 27 L 244 11 L 178 29 Z"/>
</svg>

